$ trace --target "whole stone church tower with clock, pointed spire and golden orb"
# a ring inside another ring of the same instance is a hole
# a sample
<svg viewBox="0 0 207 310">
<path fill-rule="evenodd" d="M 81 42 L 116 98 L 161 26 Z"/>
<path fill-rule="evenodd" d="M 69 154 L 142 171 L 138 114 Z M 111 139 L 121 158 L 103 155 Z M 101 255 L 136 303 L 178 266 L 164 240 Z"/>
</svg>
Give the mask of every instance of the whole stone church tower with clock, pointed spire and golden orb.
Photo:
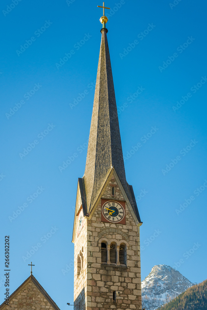
<svg viewBox="0 0 207 310">
<path fill-rule="evenodd" d="M 103 5 L 104 7 L 104 5 Z M 126 181 L 106 22 L 101 47 L 88 153 L 78 179 L 74 217 L 74 309 L 142 309 L 142 225 Z"/>
</svg>

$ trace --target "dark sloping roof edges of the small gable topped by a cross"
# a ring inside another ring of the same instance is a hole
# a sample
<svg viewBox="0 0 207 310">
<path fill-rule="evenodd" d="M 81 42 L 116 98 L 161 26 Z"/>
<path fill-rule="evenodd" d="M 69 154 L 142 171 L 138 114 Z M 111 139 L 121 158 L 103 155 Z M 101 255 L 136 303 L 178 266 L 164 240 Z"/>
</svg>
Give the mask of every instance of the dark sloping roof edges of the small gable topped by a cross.
<svg viewBox="0 0 207 310">
<path fill-rule="evenodd" d="M 0 310 L 2 309 L 10 309 L 11 306 L 11 302 L 12 299 L 16 297 L 17 294 L 19 294 L 22 290 L 25 289 L 25 287 L 28 285 L 29 282 L 33 282 L 34 285 L 38 288 L 38 290 L 43 294 L 43 296 L 45 297 L 45 299 L 47 299 L 48 303 L 52 306 L 52 308 L 54 310 L 60 310 L 60 308 L 58 308 L 58 306 L 56 305 L 56 303 L 52 300 L 52 298 L 47 294 L 46 290 L 43 289 L 43 287 L 39 284 L 39 282 L 37 281 L 37 279 L 31 275 L 29 276 L 9 297 L 9 306 L 5 304 L 5 301 L 0 305 Z M 32 302 L 33 300 L 30 300 L 29 298 L 27 298 L 27 303 L 31 302 L 31 308 L 32 308 Z M 28 309 L 30 308 L 30 306 L 26 306 L 28 307 Z"/>
</svg>

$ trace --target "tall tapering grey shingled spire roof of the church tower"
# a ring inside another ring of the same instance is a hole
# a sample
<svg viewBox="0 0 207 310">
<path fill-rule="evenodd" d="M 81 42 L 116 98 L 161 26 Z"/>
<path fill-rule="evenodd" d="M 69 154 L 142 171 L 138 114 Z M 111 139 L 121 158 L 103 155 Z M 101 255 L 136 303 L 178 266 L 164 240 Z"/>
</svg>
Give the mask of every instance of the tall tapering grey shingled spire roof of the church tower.
<svg viewBox="0 0 207 310">
<path fill-rule="evenodd" d="M 101 29 L 101 47 L 98 62 L 96 89 L 88 142 L 83 190 L 87 214 L 90 213 L 114 166 L 124 191 L 134 208 L 132 195 L 126 181 L 119 120 L 116 108 L 114 82 L 111 70 L 106 28 Z M 135 209 L 134 209 L 135 210 Z"/>
</svg>

